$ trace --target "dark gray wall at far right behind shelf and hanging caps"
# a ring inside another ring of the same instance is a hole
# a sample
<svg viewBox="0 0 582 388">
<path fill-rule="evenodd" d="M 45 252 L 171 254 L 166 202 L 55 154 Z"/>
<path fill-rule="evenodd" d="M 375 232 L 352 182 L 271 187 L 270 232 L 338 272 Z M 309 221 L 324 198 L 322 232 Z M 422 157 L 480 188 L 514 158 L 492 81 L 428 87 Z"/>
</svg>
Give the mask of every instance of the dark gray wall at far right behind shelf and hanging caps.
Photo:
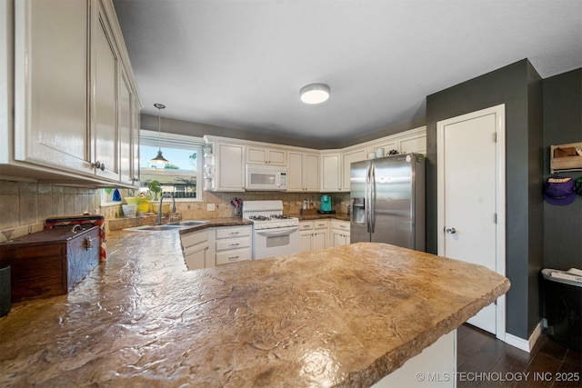
<svg viewBox="0 0 582 388">
<path fill-rule="evenodd" d="M 582 68 L 544 80 L 544 177 L 549 146 L 582 142 Z M 582 172 L 559 173 L 577 178 Z M 582 268 L 582 196 L 574 204 L 544 203 L 544 267 Z"/>
</svg>

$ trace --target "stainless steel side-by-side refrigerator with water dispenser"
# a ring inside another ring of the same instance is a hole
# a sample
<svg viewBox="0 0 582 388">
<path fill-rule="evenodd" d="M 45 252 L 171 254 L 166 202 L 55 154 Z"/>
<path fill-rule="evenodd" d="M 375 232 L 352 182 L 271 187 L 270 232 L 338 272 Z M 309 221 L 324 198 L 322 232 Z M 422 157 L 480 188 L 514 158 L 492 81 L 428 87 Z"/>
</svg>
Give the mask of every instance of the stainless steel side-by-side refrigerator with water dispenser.
<svg viewBox="0 0 582 388">
<path fill-rule="evenodd" d="M 350 242 L 426 250 L 425 156 L 396 154 L 351 164 Z"/>
</svg>

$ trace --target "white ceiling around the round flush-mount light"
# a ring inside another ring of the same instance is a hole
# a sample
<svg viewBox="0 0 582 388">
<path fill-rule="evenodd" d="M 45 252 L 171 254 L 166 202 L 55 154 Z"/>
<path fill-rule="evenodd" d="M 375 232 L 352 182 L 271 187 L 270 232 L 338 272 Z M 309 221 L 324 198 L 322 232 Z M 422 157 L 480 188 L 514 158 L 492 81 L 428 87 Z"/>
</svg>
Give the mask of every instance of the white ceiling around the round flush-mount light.
<svg viewBox="0 0 582 388">
<path fill-rule="evenodd" d="M 580 0 L 115 0 L 145 114 L 326 142 L 528 58 L 582 66 Z M 331 87 L 302 104 L 299 89 Z"/>
</svg>

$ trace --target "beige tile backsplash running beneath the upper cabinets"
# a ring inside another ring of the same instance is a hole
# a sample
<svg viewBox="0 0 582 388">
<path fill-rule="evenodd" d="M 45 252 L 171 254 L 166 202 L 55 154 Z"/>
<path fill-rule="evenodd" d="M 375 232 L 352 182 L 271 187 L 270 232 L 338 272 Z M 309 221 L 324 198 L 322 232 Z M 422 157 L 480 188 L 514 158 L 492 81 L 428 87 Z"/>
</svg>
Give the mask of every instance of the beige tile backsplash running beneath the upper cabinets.
<svg viewBox="0 0 582 388">
<path fill-rule="evenodd" d="M 122 193 L 125 194 L 124 191 Z M 176 202 L 176 211 L 182 214 L 184 220 L 233 217 L 236 215 L 235 207 L 230 202 L 234 198 L 242 198 L 243 202 L 282 200 L 285 214 L 298 214 L 304 199 L 311 201 L 318 209 L 321 195 L 283 192 L 205 192 L 203 202 Z M 349 193 L 330 195 L 336 213 L 346 213 Z M 215 210 L 208 211 L 208 204 L 214 204 Z M 0 180 L 0 243 L 41 231 L 45 226 L 45 219 L 49 217 L 88 212 L 102 214 L 105 220 L 109 221 L 122 216 L 120 207 L 119 204 L 102 207 L 100 189 Z"/>
</svg>

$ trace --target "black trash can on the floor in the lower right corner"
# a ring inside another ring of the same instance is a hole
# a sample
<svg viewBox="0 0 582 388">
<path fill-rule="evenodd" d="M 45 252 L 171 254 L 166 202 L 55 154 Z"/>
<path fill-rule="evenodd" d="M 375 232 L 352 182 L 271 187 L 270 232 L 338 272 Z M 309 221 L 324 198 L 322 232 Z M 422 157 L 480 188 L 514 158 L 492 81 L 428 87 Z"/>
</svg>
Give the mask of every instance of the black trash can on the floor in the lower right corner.
<svg viewBox="0 0 582 388">
<path fill-rule="evenodd" d="M 582 352 L 582 282 L 557 276 L 564 271 L 544 269 L 543 302 L 547 319 L 547 334 L 556 343 Z"/>
</svg>

